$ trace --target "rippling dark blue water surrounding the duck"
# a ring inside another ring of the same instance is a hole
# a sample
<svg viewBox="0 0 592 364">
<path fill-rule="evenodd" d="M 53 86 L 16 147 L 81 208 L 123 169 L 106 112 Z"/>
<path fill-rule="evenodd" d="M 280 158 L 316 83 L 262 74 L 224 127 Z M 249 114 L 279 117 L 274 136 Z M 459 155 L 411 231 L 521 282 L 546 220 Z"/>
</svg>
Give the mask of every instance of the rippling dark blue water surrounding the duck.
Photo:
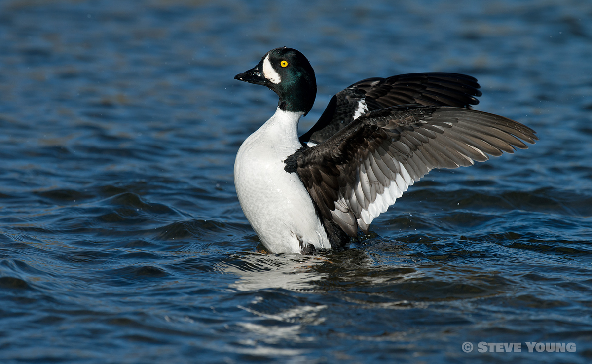
<svg viewBox="0 0 592 364">
<path fill-rule="evenodd" d="M 0 363 L 591 362 L 591 20 L 588 0 L 0 1 Z M 280 46 L 316 70 L 303 132 L 357 80 L 445 71 L 540 141 L 431 172 L 352 249 L 270 255 L 232 173 L 277 99 L 233 77 Z"/>
</svg>

